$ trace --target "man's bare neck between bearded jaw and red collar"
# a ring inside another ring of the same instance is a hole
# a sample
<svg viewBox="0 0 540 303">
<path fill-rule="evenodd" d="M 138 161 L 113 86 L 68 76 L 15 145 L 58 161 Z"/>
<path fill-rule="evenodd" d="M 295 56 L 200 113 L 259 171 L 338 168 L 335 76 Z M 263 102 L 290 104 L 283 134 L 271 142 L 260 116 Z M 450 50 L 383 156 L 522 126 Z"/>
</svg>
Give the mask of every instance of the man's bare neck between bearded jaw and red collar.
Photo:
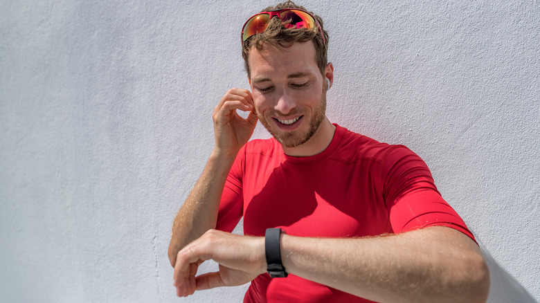
<svg viewBox="0 0 540 303">
<path fill-rule="evenodd" d="M 312 138 L 309 138 L 306 143 L 297 147 L 283 147 L 283 152 L 287 156 L 307 157 L 321 154 L 334 138 L 336 126 L 332 125 L 330 120 L 325 117 L 321 125 L 319 125 Z"/>
</svg>

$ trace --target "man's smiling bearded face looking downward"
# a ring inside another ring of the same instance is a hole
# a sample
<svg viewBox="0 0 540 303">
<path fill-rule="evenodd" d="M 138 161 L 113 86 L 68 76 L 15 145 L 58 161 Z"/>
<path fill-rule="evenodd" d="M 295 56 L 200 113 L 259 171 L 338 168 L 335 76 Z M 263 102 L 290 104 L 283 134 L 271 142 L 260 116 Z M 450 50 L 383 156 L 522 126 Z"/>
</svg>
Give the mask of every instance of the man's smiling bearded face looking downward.
<svg viewBox="0 0 540 303">
<path fill-rule="evenodd" d="M 306 143 L 325 119 L 325 79 L 313 42 L 265 44 L 249 53 L 251 91 L 260 122 L 284 147 Z"/>
</svg>

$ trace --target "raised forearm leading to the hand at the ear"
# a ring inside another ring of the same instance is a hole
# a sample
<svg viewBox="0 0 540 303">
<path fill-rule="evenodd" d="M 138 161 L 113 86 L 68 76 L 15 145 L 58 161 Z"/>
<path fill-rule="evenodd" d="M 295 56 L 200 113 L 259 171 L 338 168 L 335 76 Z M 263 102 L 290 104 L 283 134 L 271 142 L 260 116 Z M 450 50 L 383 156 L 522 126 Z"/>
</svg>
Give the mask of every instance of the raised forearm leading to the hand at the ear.
<svg viewBox="0 0 540 303">
<path fill-rule="evenodd" d="M 213 152 L 199 181 L 174 217 L 168 250 L 172 266 L 181 248 L 215 228 L 219 201 L 234 158 Z"/>
</svg>

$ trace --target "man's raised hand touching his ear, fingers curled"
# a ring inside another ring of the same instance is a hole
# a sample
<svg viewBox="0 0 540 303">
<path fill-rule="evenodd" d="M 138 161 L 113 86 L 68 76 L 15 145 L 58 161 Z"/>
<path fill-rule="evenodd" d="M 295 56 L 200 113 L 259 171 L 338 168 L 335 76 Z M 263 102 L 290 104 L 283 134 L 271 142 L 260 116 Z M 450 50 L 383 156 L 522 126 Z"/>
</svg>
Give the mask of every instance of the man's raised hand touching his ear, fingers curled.
<svg viewBox="0 0 540 303">
<path fill-rule="evenodd" d="M 249 111 L 244 119 L 236 110 Z M 236 155 L 244 146 L 257 125 L 257 114 L 253 104 L 253 95 L 246 89 L 229 89 L 219 101 L 212 115 L 214 120 L 214 151 L 227 155 Z"/>
</svg>

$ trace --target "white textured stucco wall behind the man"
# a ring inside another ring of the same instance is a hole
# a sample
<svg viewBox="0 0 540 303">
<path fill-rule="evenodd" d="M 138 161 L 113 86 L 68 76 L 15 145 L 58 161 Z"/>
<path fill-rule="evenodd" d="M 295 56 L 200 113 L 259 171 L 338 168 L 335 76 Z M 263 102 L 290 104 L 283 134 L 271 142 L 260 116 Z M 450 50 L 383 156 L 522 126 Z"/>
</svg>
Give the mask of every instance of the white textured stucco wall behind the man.
<svg viewBox="0 0 540 303">
<path fill-rule="evenodd" d="M 330 33 L 330 120 L 420 154 L 489 302 L 537 302 L 540 4 L 498 2 L 298 1 Z M 0 302 L 240 302 L 175 297 L 166 252 L 270 4 L 0 0 Z"/>
</svg>

